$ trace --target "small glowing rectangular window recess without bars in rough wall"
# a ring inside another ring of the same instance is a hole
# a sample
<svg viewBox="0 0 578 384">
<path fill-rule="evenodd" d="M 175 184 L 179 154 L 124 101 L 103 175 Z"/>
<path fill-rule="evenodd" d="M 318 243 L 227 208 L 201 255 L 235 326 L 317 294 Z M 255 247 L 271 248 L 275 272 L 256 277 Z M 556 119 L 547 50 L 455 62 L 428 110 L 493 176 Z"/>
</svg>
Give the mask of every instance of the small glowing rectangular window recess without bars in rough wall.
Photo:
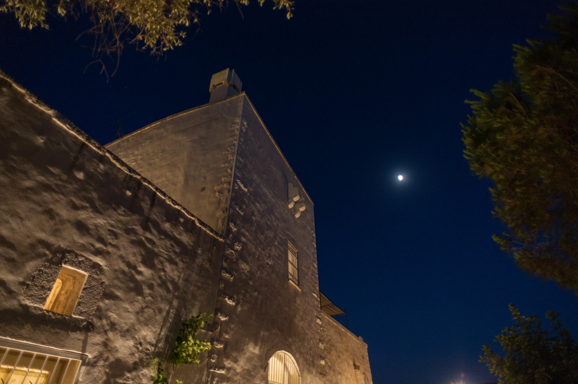
<svg viewBox="0 0 578 384">
<path fill-rule="evenodd" d="M 87 276 L 81 270 L 62 265 L 44 309 L 72 316 Z"/>
</svg>

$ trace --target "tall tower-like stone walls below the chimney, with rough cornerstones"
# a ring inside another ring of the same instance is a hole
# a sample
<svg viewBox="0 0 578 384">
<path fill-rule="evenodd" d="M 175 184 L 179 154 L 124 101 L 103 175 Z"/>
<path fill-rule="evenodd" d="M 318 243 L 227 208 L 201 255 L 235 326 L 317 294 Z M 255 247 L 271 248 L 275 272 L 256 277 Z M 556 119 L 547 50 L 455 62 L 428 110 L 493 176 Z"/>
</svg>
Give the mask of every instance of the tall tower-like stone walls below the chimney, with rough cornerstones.
<svg viewBox="0 0 578 384">
<path fill-rule="evenodd" d="M 266 384 L 269 358 L 282 350 L 295 358 L 303 383 L 355 383 L 354 360 L 367 346 L 349 333 L 351 343 L 340 342 L 336 323 L 321 314 L 313 202 L 245 93 L 163 119 L 107 148 L 150 178 L 162 174 L 153 181 L 169 193 L 195 185 L 191 194 L 198 194 L 204 180 L 213 180 L 207 189 L 214 195 L 203 199 L 228 202 L 202 211 L 225 238 L 207 382 Z M 189 163 L 158 167 L 184 159 Z M 299 288 L 288 280 L 288 242 L 298 250 Z M 364 369 L 371 383 L 369 362 Z"/>
</svg>

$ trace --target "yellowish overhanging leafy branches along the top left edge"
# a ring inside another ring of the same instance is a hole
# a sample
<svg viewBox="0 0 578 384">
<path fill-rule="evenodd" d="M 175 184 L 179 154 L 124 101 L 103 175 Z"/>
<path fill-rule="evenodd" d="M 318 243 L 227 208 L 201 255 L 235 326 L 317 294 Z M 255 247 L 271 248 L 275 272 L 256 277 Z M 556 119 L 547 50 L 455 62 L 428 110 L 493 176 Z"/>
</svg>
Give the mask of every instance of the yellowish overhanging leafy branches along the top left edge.
<svg viewBox="0 0 578 384">
<path fill-rule="evenodd" d="M 266 2 L 257 1 L 260 5 Z M 270 1 L 273 9 L 284 10 L 287 18 L 291 18 L 294 0 Z M 183 44 L 186 28 L 198 24 L 201 13 L 223 9 L 227 3 L 227 0 L 0 0 L 0 11 L 14 13 L 21 27 L 30 29 L 48 28 L 46 14 L 52 11 L 63 18 L 87 14 L 93 25 L 86 31 L 94 37 L 93 63 L 100 63 L 106 73 L 102 59 L 115 59 L 116 72 L 125 44 L 151 55 L 162 55 Z M 240 7 L 249 5 L 249 0 L 231 3 Z"/>
</svg>

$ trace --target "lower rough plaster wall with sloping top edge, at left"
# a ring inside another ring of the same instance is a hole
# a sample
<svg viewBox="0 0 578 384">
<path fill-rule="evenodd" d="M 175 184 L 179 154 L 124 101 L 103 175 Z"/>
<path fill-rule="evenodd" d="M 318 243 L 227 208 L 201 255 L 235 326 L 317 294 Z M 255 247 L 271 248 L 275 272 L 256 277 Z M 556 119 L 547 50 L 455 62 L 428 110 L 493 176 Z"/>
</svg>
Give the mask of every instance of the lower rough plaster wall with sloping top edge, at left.
<svg viewBox="0 0 578 384">
<path fill-rule="evenodd" d="M 2 73 L 0 193 L 0 336 L 88 353 L 82 382 L 150 382 L 213 310 L 222 238 Z M 62 262 L 89 274 L 73 317 L 42 310 Z"/>
</svg>

